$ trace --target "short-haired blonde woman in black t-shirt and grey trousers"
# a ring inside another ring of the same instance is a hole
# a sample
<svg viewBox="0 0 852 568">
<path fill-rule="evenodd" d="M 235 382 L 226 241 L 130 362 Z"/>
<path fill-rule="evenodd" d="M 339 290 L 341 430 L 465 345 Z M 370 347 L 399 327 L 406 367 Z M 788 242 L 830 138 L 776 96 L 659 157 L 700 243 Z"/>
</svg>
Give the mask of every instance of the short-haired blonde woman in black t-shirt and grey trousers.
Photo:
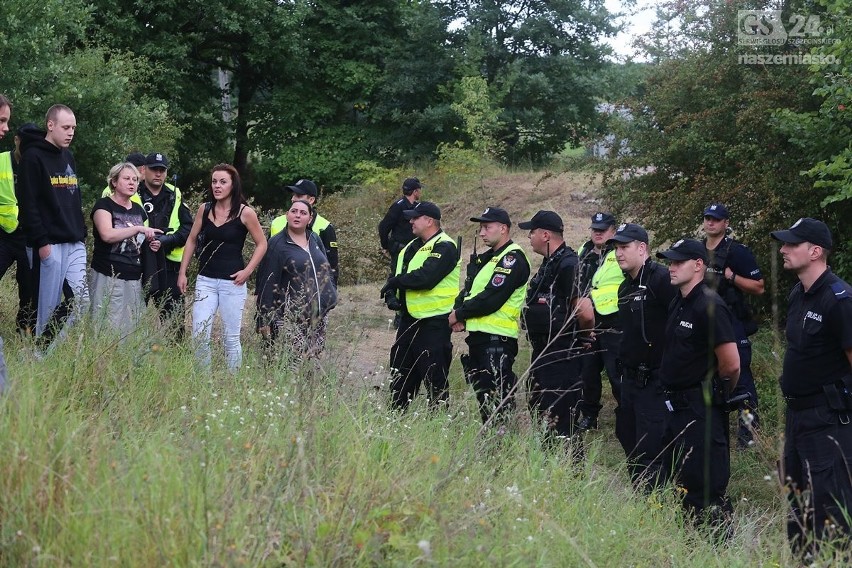
<svg viewBox="0 0 852 568">
<path fill-rule="evenodd" d="M 144 309 L 142 300 L 142 243 L 162 234 L 147 226 L 148 216 L 136 195 L 139 171 L 130 162 L 112 167 L 107 176 L 110 194 L 92 208 L 95 246 L 89 271 L 92 316 L 122 336 L 132 332 Z"/>
</svg>

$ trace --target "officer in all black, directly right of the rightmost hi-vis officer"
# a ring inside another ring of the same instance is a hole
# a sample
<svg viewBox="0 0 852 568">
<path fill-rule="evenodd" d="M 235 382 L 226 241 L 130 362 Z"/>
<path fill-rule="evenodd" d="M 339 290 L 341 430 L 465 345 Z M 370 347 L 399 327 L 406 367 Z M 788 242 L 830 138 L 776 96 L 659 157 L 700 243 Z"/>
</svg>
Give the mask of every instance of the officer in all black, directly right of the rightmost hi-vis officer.
<svg viewBox="0 0 852 568">
<path fill-rule="evenodd" d="M 615 434 L 634 483 L 652 488 L 663 476 L 662 439 L 668 422 L 666 395 L 660 382 L 669 305 L 677 296 L 669 271 L 651 260 L 648 233 L 639 225 L 619 225 L 611 242 L 625 279 L 618 289 L 621 402 Z"/>
</svg>

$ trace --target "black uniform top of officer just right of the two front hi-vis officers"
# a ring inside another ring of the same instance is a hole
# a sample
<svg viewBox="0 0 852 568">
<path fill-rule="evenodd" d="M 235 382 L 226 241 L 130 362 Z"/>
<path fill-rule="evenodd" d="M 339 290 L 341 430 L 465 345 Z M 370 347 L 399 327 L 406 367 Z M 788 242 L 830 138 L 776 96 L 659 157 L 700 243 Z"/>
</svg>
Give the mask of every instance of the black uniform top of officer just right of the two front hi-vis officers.
<svg viewBox="0 0 852 568">
<path fill-rule="evenodd" d="M 578 262 L 577 253 L 563 243 L 541 263 L 527 287 L 521 312 L 527 333 L 556 337 L 575 331 L 571 300 L 579 293 Z"/>
</svg>

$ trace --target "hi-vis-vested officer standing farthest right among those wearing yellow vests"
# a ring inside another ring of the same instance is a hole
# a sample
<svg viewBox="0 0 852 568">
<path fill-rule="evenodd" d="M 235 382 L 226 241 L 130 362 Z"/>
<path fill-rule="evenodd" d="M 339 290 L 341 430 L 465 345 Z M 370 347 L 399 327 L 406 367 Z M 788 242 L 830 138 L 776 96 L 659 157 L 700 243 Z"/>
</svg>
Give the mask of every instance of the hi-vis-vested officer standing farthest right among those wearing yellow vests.
<svg viewBox="0 0 852 568">
<path fill-rule="evenodd" d="M 589 353 L 581 359 L 583 378 L 583 400 L 580 402 L 582 416 L 578 423 L 581 430 L 598 427 L 603 390 L 601 371 L 606 369 L 612 396 L 618 405 L 621 399 L 620 374 L 618 372 L 618 344 L 621 331 L 618 329 L 618 287 L 624 274 L 615 260 L 615 252 L 609 240 L 615 234 L 615 217 L 609 213 L 592 215 L 591 239 L 579 252 L 580 292 L 585 297 L 580 309 L 594 313 L 595 330 Z"/>
</svg>

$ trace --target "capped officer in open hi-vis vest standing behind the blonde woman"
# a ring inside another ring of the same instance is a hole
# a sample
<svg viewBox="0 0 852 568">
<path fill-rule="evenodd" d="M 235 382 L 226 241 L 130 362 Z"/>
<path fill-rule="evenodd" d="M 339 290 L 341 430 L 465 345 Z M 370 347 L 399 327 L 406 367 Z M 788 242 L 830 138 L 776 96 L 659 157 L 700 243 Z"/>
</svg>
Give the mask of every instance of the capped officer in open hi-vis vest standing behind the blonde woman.
<svg viewBox="0 0 852 568">
<path fill-rule="evenodd" d="M 160 152 L 145 159 L 145 180 L 137 193 L 148 214 L 148 225 L 163 234 L 142 247 L 142 285 L 145 301 L 153 300 L 166 318 L 174 318 L 176 336 L 184 333 L 183 295 L 177 285 L 183 246 L 192 229 L 192 213 L 180 189 L 166 183 L 169 160 Z"/>
</svg>

